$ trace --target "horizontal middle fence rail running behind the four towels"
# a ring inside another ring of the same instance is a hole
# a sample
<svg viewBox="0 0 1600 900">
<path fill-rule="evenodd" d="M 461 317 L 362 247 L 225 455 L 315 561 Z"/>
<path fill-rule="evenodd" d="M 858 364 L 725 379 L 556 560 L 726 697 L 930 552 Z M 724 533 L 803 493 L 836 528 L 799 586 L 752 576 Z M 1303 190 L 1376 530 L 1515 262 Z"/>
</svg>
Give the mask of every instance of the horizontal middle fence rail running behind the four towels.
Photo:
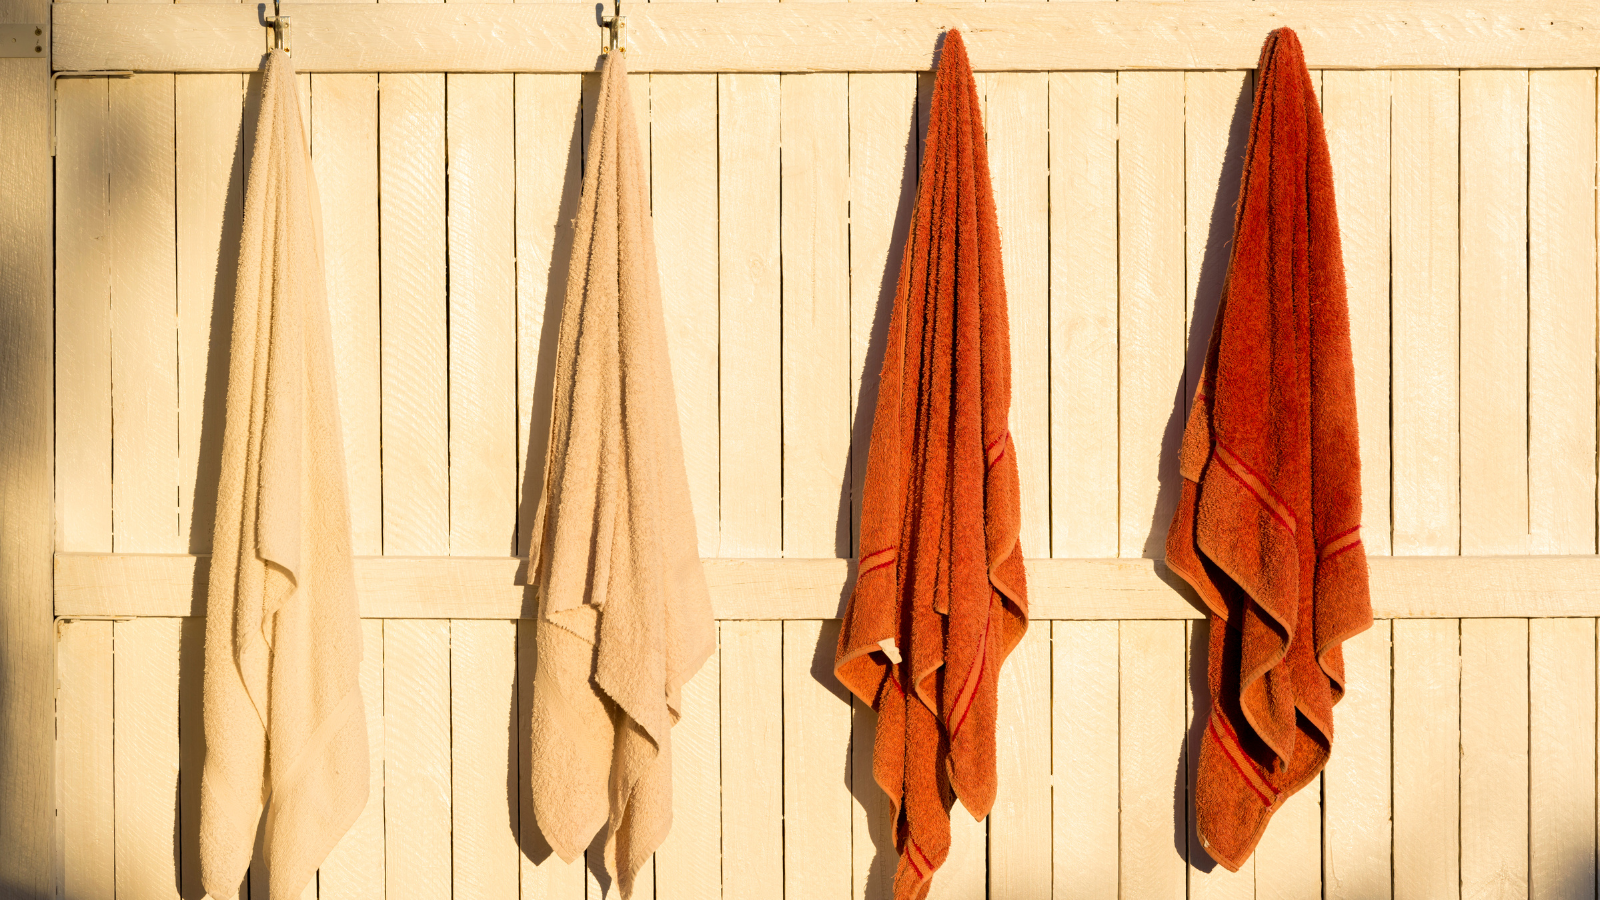
<svg viewBox="0 0 1600 900">
<path fill-rule="evenodd" d="M 210 556 L 56 554 L 56 615 L 205 615 Z M 853 559 L 706 559 L 722 620 L 838 618 Z M 1597 556 L 1368 557 L 1378 618 L 1600 615 Z M 365 618 L 530 618 L 520 557 L 357 557 Z M 1035 620 L 1203 618 L 1198 601 L 1155 559 L 1030 559 Z"/>
</svg>

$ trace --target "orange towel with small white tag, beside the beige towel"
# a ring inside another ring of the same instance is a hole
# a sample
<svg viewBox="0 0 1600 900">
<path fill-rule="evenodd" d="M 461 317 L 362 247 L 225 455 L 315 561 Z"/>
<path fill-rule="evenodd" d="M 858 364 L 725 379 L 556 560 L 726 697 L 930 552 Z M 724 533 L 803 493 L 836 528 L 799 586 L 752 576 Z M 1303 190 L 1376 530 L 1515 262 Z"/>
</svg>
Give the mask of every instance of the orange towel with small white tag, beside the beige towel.
<svg viewBox="0 0 1600 900">
<path fill-rule="evenodd" d="M 978 86 L 944 37 L 878 375 L 856 588 L 834 673 L 878 713 L 896 900 L 925 897 L 950 807 L 995 799 L 995 684 L 1027 629 L 1011 348 Z"/>
</svg>

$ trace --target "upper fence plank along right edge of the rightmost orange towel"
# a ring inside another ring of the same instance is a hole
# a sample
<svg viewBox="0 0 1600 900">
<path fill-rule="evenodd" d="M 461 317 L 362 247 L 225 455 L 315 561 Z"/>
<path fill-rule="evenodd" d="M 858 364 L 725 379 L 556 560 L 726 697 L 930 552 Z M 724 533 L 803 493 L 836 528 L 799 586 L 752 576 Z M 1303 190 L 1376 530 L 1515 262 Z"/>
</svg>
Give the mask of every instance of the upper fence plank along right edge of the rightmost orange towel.
<svg viewBox="0 0 1600 900">
<path fill-rule="evenodd" d="M 1362 544 L 1390 552 L 1389 72 L 1323 72 L 1362 432 Z"/>
</svg>

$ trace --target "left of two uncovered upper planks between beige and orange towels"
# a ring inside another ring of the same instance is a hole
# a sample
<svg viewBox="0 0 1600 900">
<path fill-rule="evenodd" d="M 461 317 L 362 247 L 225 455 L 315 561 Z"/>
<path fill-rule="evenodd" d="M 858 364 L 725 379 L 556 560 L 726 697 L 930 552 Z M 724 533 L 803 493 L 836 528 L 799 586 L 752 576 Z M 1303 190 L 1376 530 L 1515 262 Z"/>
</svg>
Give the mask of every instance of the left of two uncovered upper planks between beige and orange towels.
<svg viewBox="0 0 1600 900">
<path fill-rule="evenodd" d="M 722 535 L 718 556 L 782 549 L 778 75 L 718 75 Z"/>
</svg>

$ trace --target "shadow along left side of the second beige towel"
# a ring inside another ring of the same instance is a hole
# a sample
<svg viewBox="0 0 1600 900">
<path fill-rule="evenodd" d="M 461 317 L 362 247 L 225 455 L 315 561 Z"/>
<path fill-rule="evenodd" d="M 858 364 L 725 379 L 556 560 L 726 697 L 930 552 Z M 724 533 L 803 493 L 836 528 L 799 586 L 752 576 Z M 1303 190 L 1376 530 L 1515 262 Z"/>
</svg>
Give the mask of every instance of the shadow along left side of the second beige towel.
<svg viewBox="0 0 1600 900">
<path fill-rule="evenodd" d="M 582 189 L 582 141 L 584 117 L 582 106 L 573 107 L 571 139 L 568 143 L 566 171 L 574 168 L 579 178 L 568 178 L 562 189 L 562 203 L 555 216 L 555 240 L 550 255 L 550 272 L 544 288 L 544 320 L 539 331 L 539 360 L 533 380 L 533 410 L 528 416 L 528 460 L 522 477 L 522 503 L 517 508 L 517 525 L 512 544 L 517 556 L 528 557 L 530 540 L 533 536 L 533 517 L 544 493 L 544 456 L 549 450 L 550 437 L 550 397 L 555 386 L 555 343 L 562 331 L 562 304 L 566 298 L 566 274 L 573 258 L 573 219 L 578 215 L 578 197 Z M 518 583 L 533 581 L 533 572 L 526 567 L 518 573 Z M 533 645 L 533 623 L 526 621 L 538 615 L 538 597 L 530 585 L 523 589 L 522 618 L 517 625 L 517 676 L 515 701 L 510 708 L 507 724 L 506 753 L 507 785 L 506 809 L 510 817 L 512 833 L 522 854 L 534 865 L 554 855 L 550 842 L 539 831 L 539 823 L 533 815 L 533 796 L 530 794 L 530 778 L 533 775 L 533 748 L 526 740 L 526 724 L 533 716 L 533 674 L 538 666 Z M 603 866 L 602 866 L 603 871 Z"/>
</svg>

